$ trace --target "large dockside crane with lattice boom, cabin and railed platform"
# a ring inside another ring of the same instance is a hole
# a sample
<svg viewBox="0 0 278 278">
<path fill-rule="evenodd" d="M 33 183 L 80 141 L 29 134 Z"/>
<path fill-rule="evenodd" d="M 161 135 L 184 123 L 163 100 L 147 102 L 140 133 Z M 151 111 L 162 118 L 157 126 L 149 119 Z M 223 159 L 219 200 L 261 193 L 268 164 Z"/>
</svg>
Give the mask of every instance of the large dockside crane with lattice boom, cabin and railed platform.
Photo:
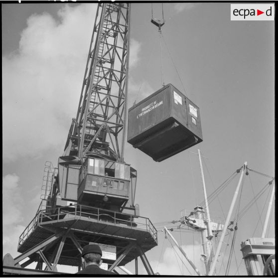
<svg viewBox="0 0 278 278">
<path fill-rule="evenodd" d="M 139 216 L 137 171 L 124 160 L 130 18 L 128 2 L 98 4 L 77 116 L 58 167 L 45 164 L 42 203 L 19 238 L 21 255 L 4 256 L 4 273 L 26 274 L 33 262 L 39 274 L 80 269 L 83 246 L 98 243 L 110 271 L 135 260 L 138 274 L 140 258 L 153 275 L 145 252 L 157 231 Z"/>
</svg>

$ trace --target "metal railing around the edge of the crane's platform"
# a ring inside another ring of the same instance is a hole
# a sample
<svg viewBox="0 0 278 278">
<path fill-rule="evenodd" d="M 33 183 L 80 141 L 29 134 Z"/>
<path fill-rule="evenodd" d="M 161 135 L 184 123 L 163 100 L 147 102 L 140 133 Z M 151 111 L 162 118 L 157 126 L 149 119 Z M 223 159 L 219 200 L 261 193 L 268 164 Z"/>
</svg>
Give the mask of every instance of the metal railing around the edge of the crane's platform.
<svg viewBox="0 0 278 278">
<path fill-rule="evenodd" d="M 129 229 L 142 229 L 146 232 L 149 232 L 154 241 L 157 242 L 157 230 L 151 221 L 145 217 L 78 204 L 45 210 L 39 209 L 36 213 L 36 216 L 20 235 L 18 248 L 33 232 L 36 226 L 41 226 L 49 221 L 58 222 L 60 220 L 66 220 L 70 217 L 79 217 L 80 219 L 94 219 L 99 223 L 105 222 L 109 223 L 110 225 L 114 224 L 115 226 L 125 225 L 129 227 Z"/>
</svg>

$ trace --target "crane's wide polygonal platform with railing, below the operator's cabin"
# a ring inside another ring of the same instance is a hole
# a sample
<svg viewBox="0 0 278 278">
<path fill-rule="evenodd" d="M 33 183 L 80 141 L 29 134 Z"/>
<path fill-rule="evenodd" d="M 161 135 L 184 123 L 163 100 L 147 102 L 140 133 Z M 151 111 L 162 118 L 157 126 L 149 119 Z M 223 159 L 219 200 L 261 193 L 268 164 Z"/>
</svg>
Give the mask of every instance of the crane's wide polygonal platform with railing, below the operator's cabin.
<svg viewBox="0 0 278 278">
<path fill-rule="evenodd" d="M 17 250 L 26 254 L 36 247 L 41 249 L 43 243 L 49 241 L 43 250 L 49 260 L 51 255 L 55 254 L 62 236 L 65 238 L 58 264 L 76 267 L 80 266 L 81 256 L 76 247 L 78 245 L 83 247 L 93 242 L 113 245 L 116 246 L 117 258 L 131 245 L 120 266 L 140 256 L 138 245 L 143 253 L 157 246 L 157 231 L 148 218 L 72 205 L 38 211 L 21 234 Z M 36 261 L 36 255 L 31 252 L 29 258 Z M 103 261 L 110 265 L 114 263 L 111 260 Z"/>
</svg>

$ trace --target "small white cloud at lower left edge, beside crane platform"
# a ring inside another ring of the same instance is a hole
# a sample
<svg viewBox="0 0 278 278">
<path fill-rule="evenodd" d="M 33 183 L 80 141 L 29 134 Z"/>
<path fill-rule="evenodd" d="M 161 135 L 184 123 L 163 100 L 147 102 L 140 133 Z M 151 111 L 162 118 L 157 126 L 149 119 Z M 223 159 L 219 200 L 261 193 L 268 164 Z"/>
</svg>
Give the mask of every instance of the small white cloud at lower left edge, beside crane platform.
<svg viewBox="0 0 278 278">
<path fill-rule="evenodd" d="M 13 257 L 19 254 L 15 250 L 17 250 L 19 236 L 25 229 L 20 225 L 23 220 L 21 214 L 23 203 L 18 182 L 19 177 L 15 174 L 8 174 L 2 178 L 3 254 L 10 253 Z"/>
</svg>

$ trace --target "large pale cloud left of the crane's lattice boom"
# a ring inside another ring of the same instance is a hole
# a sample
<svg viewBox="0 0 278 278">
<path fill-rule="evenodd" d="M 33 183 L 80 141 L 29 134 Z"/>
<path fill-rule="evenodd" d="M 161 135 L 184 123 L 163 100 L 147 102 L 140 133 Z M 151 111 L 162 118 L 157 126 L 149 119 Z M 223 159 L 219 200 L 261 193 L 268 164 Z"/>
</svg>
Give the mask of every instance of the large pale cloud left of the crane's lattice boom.
<svg viewBox="0 0 278 278">
<path fill-rule="evenodd" d="M 76 117 L 96 4 L 33 14 L 18 51 L 2 57 L 3 159 L 63 149 Z"/>
</svg>

